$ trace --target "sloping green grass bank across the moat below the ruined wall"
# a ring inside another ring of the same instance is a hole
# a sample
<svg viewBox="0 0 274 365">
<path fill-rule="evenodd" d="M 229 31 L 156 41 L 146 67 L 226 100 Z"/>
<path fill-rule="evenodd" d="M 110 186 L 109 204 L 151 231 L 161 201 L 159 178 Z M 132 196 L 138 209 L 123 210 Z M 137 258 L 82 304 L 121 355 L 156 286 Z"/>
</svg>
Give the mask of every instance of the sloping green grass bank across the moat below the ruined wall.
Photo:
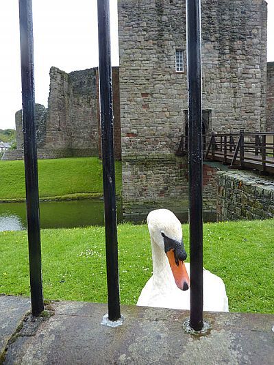
<svg viewBox="0 0 274 365">
<path fill-rule="evenodd" d="M 38 160 L 38 175 L 40 198 L 76 199 L 103 194 L 102 164 L 98 158 Z M 116 192 L 121 192 L 121 162 L 116 162 Z M 0 201 L 23 199 L 24 162 L 0 161 Z"/>
</svg>

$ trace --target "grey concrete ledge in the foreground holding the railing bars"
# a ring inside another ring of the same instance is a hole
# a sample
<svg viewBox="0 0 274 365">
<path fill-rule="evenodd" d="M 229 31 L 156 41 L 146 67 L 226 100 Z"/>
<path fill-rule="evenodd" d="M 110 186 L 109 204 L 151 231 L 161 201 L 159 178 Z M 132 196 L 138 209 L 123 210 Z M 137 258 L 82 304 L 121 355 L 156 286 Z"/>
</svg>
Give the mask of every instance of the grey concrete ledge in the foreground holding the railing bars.
<svg viewBox="0 0 274 365">
<path fill-rule="evenodd" d="M 193 336 L 183 330 L 182 310 L 122 306 L 125 321 L 111 328 L 101 325 L 105 304 L 53 302 L 49 309 L 50 318 L 25 318 L 3 364 L 274 364 L 272 314 L 206 312 L 210 331 Z"/>
</svg>

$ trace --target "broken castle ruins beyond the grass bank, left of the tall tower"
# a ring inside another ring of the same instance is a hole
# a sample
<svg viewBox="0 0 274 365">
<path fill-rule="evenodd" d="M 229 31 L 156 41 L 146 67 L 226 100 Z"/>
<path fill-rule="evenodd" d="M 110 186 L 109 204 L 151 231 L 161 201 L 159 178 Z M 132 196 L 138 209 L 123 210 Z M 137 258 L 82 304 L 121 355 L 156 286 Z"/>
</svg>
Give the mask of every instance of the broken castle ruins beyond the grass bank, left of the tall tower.
<svg viewBox="0 0 274 365">
<path fill-rule="evenodd" d="M 121 159 L 119 68 L 113 67 L 115 158 Z M 48 108 L 35 105 L 38 158 L 65 158 L 99 154 L 98 70 L 65 73 L 50 69 Z M 23 159 L 22 111 L 16 112 L 17 149 L 3 159 Z"/>
</svg>

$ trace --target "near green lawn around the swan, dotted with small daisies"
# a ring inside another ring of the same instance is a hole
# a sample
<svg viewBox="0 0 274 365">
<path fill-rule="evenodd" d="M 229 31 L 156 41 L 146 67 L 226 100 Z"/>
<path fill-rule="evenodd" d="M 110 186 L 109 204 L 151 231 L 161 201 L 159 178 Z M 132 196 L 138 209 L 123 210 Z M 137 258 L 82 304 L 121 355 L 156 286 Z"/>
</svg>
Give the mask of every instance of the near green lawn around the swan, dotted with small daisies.
<svg viewBox="0 0 274 365">
<path fill-rule="evenodd" d="M 224 281 L 231 312 L 274 312 L 274 221 L 204 225 L 204 266 Z M 188 250 L 188 226 L 183 226 Z M 146 225 L 119 225 L 121 303 L 135 304 L 151 276 Z M 29 295 L 27 234 L 3 232 L 0 292 Z M 103 227 L 42 230 L 45 298 L 107 300 Z"/>
</svg>

